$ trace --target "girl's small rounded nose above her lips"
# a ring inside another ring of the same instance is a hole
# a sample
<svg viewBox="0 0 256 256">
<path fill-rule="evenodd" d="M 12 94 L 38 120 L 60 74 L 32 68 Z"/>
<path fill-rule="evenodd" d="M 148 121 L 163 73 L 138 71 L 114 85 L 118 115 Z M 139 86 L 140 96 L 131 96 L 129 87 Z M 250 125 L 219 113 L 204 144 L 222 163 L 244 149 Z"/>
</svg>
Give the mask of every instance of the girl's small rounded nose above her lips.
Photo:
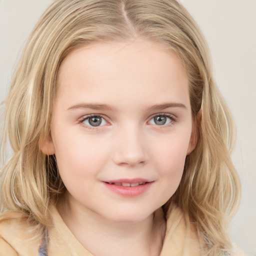
<svg viewBox="0 0 256 256">
<path fill-rule="evenodd" d="M 115 137 L 113 161 L 117 165 L 142 166 L 148 161 L 146 141 L 139 129 L 127 128 Z"/>
</svg>

